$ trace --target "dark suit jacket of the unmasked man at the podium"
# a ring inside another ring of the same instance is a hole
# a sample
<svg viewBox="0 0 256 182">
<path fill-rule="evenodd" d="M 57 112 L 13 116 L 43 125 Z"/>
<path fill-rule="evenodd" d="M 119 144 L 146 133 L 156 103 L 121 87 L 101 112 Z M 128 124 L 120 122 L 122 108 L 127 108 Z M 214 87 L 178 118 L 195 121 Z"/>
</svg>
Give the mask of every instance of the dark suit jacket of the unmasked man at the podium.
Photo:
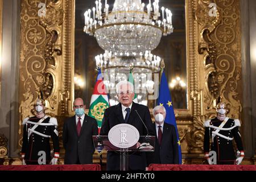
<svg viewBox="0 0 256 182">
<path fill-rule="evenodd" d="M 134 110 L 138 111 L 145 125 L 148 127 L 149 135 L 155 135 L 154 130 L 150 128 L 151 115 L 147 106 L 136 104 L 135 102 L 133 102 L 127 123 L 136 127 L 139 131 L 140 136 L 147 135 L 146 128 L 144 127 L 141 119 L 139 119 L 138 114 Z M 124 123 L 124 119 L 122 114 L 122 107 L 119 103 L 118 105 L 111 106 L 105 110 L 100 135 L 108 135 L 109 130 L 113 126 L 121 123 Z M 107 154 L 107 170 L 119 170 L 119 158 L 119 154 L 109 151 Z M 129 156 L 129 168 L 131 170 L 144 170 L 146 166 L 147 162 L 144 152 L 135 152 L 135 154 Z"/>
</svg>

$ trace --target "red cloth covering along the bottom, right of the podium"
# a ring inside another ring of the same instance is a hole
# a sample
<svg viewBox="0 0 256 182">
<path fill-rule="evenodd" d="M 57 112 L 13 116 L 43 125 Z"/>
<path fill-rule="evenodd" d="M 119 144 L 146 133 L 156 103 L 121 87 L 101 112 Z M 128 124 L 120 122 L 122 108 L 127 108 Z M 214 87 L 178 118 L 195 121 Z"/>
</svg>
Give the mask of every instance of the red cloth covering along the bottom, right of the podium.
<svg viewBox="0 0 256 182">
<path fill-rule="evenodd" d="M 256 171 L 255 165 L 150 164 L 148 171 Z"/>
</svg>

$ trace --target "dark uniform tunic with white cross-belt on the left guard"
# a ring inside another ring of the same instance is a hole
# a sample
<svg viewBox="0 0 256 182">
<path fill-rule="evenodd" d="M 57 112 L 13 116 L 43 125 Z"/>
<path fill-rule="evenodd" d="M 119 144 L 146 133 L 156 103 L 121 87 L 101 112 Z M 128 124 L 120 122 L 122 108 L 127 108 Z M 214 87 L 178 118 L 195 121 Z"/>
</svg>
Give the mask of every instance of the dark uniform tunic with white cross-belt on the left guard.
<svg viewBox="0 0 256 182">
<path fill-rule="evenodd" d="M 42 123 L 36 127 L 35 131 L 38 133 L 32 133 L 29 129 L 32 129 L 35 124 L 40 121 L 41 118 L 31 117 L 26 118 L 23 121 L 23 144 L 22 155 L 26 164 L 49 164 L 51 161 L 51 146 L 49 143 L 49 137 L 52 138 L 53 150 L 55 156 L 59 156 L 59 137 L 57 132 L 57 120 L 56 118 L 47 117 Z M 45 123 L 47 123 L 45 125 Z M 29 136 L 29 133 L 30 136 Z M 47 135 L 42 136 L 40 134 Z M 44 152 L 46 157 L 44 158 Z"/>
</svg>

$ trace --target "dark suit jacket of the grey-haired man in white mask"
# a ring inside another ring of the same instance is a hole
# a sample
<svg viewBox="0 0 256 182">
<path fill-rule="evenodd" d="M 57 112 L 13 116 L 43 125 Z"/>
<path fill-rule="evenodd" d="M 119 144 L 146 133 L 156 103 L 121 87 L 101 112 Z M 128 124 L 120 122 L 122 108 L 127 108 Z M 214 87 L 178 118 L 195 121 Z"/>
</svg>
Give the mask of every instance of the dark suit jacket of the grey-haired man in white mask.
<svg viewBox="0 0 256 182">
<path fill-rule="evenodd" d="M 155 132 L 155 123 L 152 123 Z M 179 164 L 179 151 L 177 135 L 174 125 L 164 122 L 162 144 L 159 145 L 158 138 L 155 140 L 155 151 L 147 153 L 149 164 Z"/>
</svg>

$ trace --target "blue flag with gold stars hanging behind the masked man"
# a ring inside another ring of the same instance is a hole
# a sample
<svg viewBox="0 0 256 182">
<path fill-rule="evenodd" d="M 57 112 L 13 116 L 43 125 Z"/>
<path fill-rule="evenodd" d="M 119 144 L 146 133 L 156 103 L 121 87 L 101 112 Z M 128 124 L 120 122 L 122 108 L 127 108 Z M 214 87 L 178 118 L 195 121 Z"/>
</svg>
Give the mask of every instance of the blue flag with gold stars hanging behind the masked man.
<svg viewBox="0 0 256 182">
<path fill-rule="evenodd" d="M 179 140 L 179 133 L 177 131 L 177 124 L 174 114 L 174 108 L 172 107 L 172 98 L 171 93 L 168 88 L 168 82 L 166 79 L 166 74 L 162 73 L 161 81 L 160 81 L 160 89 L 159 89 L 159 97 L 158 97 L 158 105 L 162 105 L 166 108 L 166 119 L 164 122 L 174 125 L 177 134 L 177 145 L 179 148 L 179 163 L 182 163 L 182 155 L 181 155 L 181 147 L 180 147 L 180 140 Z"/>
</svg>

